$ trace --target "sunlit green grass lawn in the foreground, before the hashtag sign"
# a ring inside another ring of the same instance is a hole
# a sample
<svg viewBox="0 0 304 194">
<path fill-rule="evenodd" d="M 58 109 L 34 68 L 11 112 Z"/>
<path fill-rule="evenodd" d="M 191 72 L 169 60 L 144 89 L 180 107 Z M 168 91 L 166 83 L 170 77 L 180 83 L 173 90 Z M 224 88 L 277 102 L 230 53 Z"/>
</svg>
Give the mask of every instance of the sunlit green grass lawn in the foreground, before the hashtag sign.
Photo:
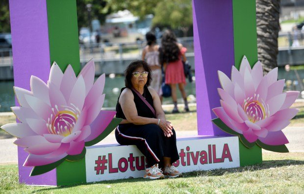
<svg viewBox="0 0 304 194">
<path fill-rule="evenodd" d="M 19 184 L 17 165 L 3 165 L 0 193 L 304 193 L 304 153 L 263 153 L 263 160 L 254 166 L 188 172 L 176 179 L 133 178 L 65 187 Z"/>
</svg>

